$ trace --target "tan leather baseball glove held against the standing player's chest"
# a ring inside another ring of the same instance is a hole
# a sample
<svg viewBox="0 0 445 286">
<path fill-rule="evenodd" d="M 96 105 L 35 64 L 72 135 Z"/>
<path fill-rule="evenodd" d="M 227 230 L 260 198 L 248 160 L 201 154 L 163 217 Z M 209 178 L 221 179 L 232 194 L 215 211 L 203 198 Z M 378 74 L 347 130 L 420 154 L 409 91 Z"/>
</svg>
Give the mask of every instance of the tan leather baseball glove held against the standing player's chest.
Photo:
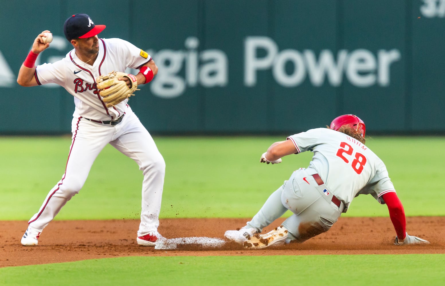
<svg viewBox="0 0 445 286">
<path fill-rule="evenodd" d="M 131 81 L 131 87 L 128 87 L 125 80 L 119 78 L 127 77 Z M 125 72 L 110 72 L 108 75 L 98 76 L 96 79 L 97 89 L 101 95 L 106 107 L 112 107 L 117 103 L 134 95 L 133 92 L 139 90 L 138 81 L 134 75 Z"/>
</svg>

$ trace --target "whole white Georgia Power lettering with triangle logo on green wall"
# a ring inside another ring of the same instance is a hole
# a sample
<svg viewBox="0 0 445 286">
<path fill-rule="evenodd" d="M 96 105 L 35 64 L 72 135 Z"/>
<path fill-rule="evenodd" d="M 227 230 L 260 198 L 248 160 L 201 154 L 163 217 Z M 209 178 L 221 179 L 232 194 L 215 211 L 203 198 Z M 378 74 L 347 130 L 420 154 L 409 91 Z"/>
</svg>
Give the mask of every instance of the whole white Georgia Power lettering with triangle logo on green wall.
<svg viewBox="0 0 445 286">
<path fill-rule="evenodd" d="M 158 74 L 147 85 L 154 95 L 175 98 L 188 87 L 225 87 L 229 84 L 229 60 L 224 51 L 200 51 L 196 37 L 186 38 L 184 47 L 183 50 L 147 50 L 159 67 Z M 65 52 L 69 47 L 64 37 L 54 36 L 49 48 Z M 306 80 L 314 87 L 324 84 L 338 87 L 344 80 L 356 87 L 385 87 L 390 84 L 392 64 L 401 60 L 401 52 L 397 49 L 380 49 L 376 54 L 364 48 L 337 52 L 328 49 L 320 52 L 309 49 L 298 51 L 292 48 L 280 51 L 275 40 L 267 36 L 247 36 L 243 48 L 244 64 L 236 64 L 232 70 L 244 75 L 247 87 L 255 87 L 258 75 L 266 71 L 271 71 L 275 82 L 283 87 L 297 87 Z M 40 57 L 36 64 L 40 63 Z M 53 63 L 62 58 L 49 56 L 42 61 Z M 236 70 L 238 67 L 244 70 Z M 126 72 L 137 74 L 139 71 L 127 69 Z M 15 87 L 16 84 L 16 75 L 0 52 L 0 87 Z M 44 87 L 58 86 L 46 84 Z"/>
</svg>

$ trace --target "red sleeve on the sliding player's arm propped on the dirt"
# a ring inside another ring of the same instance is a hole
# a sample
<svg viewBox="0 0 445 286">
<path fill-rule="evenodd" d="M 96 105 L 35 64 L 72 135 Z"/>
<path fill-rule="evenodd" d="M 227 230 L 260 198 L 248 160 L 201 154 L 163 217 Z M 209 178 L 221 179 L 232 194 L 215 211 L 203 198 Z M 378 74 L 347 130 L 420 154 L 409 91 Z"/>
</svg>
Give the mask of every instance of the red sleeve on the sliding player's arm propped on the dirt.
<svg viewBox="0 0 445 286">
<path fill-rule="evenodd" d="M 406 235 L 406 218 L 405 210 L 402 202 L 395 192 L 388 192 L 382 195 L 386 205 L 388 206 L 389 218 L 391 218 L 392 225 L 396 230 L 397 237 L 405 239 Z"/>
</svg>

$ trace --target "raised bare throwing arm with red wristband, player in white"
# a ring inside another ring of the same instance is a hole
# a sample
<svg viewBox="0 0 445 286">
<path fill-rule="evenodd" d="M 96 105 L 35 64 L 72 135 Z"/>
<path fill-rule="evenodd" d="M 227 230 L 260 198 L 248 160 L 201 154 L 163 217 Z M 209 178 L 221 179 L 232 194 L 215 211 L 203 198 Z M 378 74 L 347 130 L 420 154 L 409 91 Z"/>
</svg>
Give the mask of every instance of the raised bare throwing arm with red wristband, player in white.
<svg viewBox="0 0 445 286">
<path fill-rule="evenodd" d="M 43 52 L 44 49 L 49 47 L 49 43 L 43 44 L 42 36 L 43 33 L 49 32 L 45 30 L 39 34 L 32 43 L 31 52 L 29 52 L 26 60 L 20 67 L 19 75 L 17 76 L 17 83 L 24 87 L 32 87 L 38 85 L 36 79 L 34 78 L 34 73 L 36 72 L 35 62 L 37 56 Z"/>
</svg>

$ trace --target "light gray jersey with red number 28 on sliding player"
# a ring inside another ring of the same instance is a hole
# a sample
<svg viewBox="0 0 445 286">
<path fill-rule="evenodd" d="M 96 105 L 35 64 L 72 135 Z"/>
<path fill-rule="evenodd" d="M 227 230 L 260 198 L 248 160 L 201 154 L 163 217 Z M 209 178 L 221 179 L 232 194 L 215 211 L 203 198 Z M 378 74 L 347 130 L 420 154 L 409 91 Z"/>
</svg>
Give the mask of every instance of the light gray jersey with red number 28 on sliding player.
<svg viewBox="0 0 445 286">
<path fill-rule="evenodd" d="M 360 194 L 371 194 L 384 204 L 380 197 L 395 192 L 382 160 L 357 139 L 328 128 L 311 129 L 287 139 L 292 140 L 298 153 L 314 153 L 309 167 L 346 207 Z"/>
</svg>

